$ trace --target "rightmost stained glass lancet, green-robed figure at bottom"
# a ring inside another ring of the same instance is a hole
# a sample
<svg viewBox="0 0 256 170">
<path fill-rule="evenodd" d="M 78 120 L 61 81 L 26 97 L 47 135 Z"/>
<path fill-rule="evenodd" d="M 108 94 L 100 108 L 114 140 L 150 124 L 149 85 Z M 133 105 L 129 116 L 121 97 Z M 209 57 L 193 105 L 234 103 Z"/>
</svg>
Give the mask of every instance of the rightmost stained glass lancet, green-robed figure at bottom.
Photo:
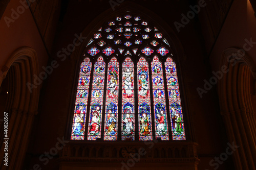
<svg viewBox="0 0 256 170">
<path fill-rule="evenodd" d="M 176 71 L 176 64 L 168 57 L 165 62 L 167 80 L 170 119 L 172 122 L 173 140 L 185 140 L 183 114 L 181 109 L 179 83 Z"/>
</svg>

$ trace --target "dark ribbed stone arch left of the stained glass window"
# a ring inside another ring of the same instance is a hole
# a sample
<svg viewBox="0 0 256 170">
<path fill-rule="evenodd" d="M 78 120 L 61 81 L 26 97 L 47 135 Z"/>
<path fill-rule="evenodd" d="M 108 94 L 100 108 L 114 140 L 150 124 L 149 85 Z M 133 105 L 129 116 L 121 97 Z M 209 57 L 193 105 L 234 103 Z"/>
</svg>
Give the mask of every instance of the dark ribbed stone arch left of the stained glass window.
<svg viewBox="0 0 256 170">
<path fill-rule="evenodd" d="M 30 90 L 27 83 L 33 82 L 38 75 L 36 52 L 27 46 L 20 47 L 12 53 L 2 69 L 1 82 L 8 76 L 9 94 L 6 103 L 8 113 L 8 166 L 1 162 L 1 169 L 21 169 L 25 158 L 29 134 L 37 114 L 39 87 Z M 4 136 L 4 126 L 1 136 Z M 1 157 L 4 157 L 5 143 L 1 139 Z"/>
</svg>

